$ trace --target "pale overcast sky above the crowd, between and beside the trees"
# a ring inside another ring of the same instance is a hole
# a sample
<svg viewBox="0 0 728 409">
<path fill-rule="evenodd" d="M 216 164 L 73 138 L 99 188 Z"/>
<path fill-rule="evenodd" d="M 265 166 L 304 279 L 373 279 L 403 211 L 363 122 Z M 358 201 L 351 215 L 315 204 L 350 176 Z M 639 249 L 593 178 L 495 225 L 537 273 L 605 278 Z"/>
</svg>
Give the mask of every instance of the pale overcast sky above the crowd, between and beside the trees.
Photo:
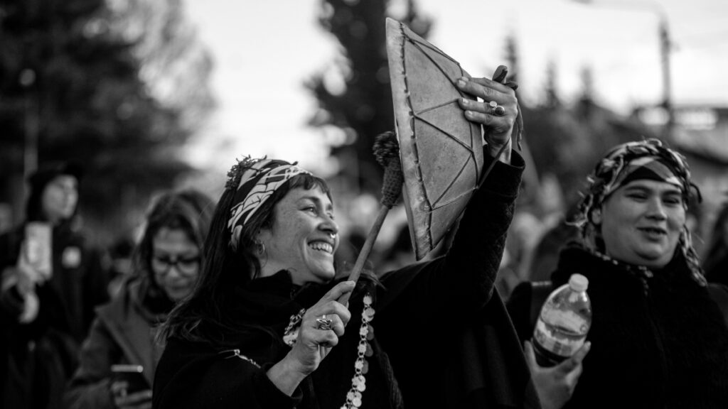
<svg viewBox="0 0 728 409">
<path fill-rule="evenodd" d="M 366 0 L 361 0 L 366 1 Z M 397 4 L 398 0 L 392 0 Z M 675 47 L 675 103 L 728 106 L 728 1 L 416 0 L 434 20 L 430 41 L 473 76 L 503 63 L 512 33 L 521 57 L 521 98 L 532 102 L 553 61 L 561 96 L 593 71 L 600 103 L 627 112 L 662 98 L 658 41 L 665 16 Z M 325 174 L 320 130 L 306 128 L 315 101 L 303 82 L 332 65 L 337 43 L 316 22 L 320 0 L 187 0 L 215 60 L 218 111 L 193 151 L 198 164 L 226 170 L 244 154 L 298 160 Z M 384 24 L 384 22 L 382 22 Z"/>
</svg>

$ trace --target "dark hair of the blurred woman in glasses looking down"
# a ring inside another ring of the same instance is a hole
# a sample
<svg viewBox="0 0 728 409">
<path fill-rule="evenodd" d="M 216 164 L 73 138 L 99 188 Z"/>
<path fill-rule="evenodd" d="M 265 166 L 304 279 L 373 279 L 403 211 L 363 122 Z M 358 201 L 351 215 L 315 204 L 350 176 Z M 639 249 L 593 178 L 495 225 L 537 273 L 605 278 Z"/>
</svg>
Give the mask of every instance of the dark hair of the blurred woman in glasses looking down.
<svg viewBox="0 0 728 409">
<path fill-rule="evenodd" d="M 151 253 L 154 236 L 162 228 L 181 229 L 202 248 L 210 230 L 214 207 L 215 202 L 210 197 L 192 189 L 169 191 L 154 200 L 146 215 L 142 237 L 132 253 L 135 274 L 149 277 L 149 282 L 156 287 L 151 272 Z M 201 255 L 200 266 L 205 266 L 204 254 Z"/>
</svg>

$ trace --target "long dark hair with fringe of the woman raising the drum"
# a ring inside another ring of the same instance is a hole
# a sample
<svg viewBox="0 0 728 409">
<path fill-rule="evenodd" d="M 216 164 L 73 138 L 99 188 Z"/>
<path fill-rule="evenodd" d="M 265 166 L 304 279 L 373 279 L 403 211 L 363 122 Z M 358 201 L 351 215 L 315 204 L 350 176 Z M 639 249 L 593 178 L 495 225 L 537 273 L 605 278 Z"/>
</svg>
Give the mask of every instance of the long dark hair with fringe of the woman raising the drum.
<svg viewBox="0 0 728 409">
<path fill-rule="evenodd" d="M 320 188 L 331 199 L 331 191 L 325 180 L 302 173 L 290 178 L 261 204 L 261 208 L 245 223 L 240 234 L 238 250 L 230 246 L 228 219 L 234 203 L 236 188 L 226 186 L 215 208 L 210 234 L 205 242 L 207 263 L 202 268 L 191 295 L 178 303 L 162 327 L 160 336 L 176 336 L 189 341 L 211 342 L 213 333 L 235 331 L 232 319 L 227 315 L 234 287 L 245 285 L 260 274 L 261 266 L 253 254 L 254 240 L 258 231 L 274 223 L 275 205 L 294 188 Z M 205 322 L 203 328 L 199 325 Z"/>
</svg>

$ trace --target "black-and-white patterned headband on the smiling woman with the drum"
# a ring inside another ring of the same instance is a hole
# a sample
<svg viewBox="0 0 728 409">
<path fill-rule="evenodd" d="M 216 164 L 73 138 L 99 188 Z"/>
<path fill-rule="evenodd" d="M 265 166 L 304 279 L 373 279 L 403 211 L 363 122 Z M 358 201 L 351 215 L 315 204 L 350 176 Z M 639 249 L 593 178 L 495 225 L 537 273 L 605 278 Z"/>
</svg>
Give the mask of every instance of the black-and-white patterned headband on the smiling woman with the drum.
<svg viewBox="0 0 728 409">
<path fill-rule="evenodd" d="M 238 162 L 228 173 L 227 188 L 236 189 L 230 210 L 228 229 L 230 246 L 237 250 L 242 226 L 261 208 L 277 188 L 296 175 L 311 175 L 311 172 L 293 164 L 276 159 L 252 159 L 250 156 Z M 240 178 L 240 179 L 238 179 Z"/>
</svg>

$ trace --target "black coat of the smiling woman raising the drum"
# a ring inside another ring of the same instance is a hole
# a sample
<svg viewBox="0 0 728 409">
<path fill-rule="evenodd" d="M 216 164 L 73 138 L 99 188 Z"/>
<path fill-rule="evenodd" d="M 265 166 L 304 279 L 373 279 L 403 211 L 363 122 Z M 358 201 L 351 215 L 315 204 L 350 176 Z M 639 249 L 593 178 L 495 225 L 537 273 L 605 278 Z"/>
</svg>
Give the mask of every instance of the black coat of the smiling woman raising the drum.
<svg viewBox="0 0 728 409">
<path fill-rule="evenodd" d="M 340 408 L 354 373 L 364 293 L 374 296 L 376 314 L 362 408 L 537 408 L 521 346 L 494 292 L 521 170 L 496 164 L 448 255 L 384 274 L 381 287 L 360 283 L 349 301 L 347 333 L 293 397 L 265 371 L 288 351 L 280 338 L 290 314 L 331 285 L 294 290 L 292 297 L 284 271 L 253 280 L 247 293 L 241 290 L 247 297 L 238 298 L 248 316 L 266 311 L 255 321 L 273 335 L 240 338 L 245 359 L 171 339 L 157 367 L 154 408 Z M 251 298 L 266 301 L 253 308 Z"/>
</svg>

